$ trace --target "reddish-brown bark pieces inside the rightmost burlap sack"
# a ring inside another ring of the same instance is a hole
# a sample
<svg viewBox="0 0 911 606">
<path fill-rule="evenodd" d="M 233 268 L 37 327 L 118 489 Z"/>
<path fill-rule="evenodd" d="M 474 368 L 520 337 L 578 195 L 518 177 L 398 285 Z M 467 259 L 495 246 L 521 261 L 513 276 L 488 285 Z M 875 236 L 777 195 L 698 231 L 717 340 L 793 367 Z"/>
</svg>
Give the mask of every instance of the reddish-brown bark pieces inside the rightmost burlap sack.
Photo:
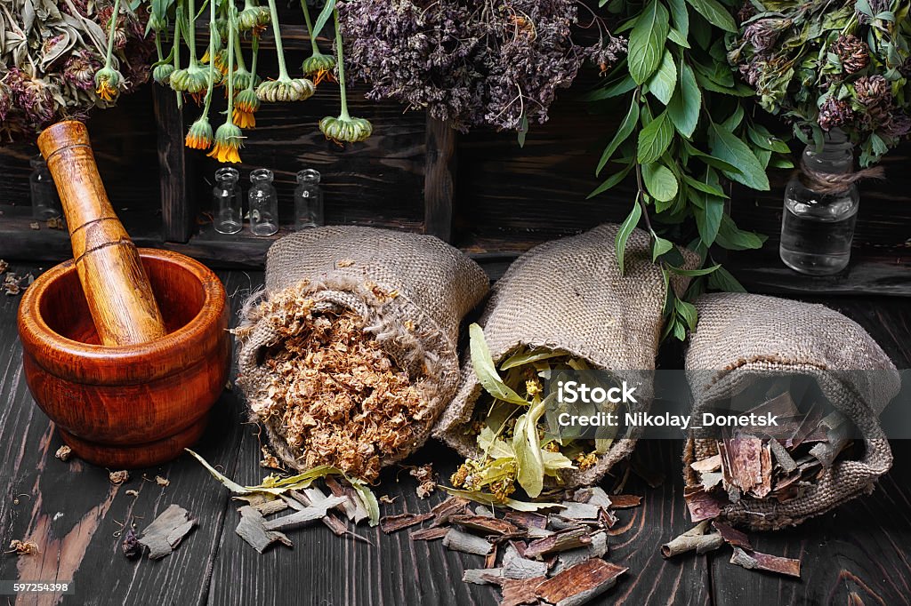
<svg viewBox="0 0 911 606">
<path fill-rule="evenodd" d="M 689 462 L 683 497 L 694 522 L 715 519 L 742 498 L 796 499 L 852 454 L 853 424 L 824 400 L 804 412 L 784 391 L 751 412 L 776 415 L 779 427 L 764 435 L 728 432 L 708 447 L 716 454 Z"/>
</svg>

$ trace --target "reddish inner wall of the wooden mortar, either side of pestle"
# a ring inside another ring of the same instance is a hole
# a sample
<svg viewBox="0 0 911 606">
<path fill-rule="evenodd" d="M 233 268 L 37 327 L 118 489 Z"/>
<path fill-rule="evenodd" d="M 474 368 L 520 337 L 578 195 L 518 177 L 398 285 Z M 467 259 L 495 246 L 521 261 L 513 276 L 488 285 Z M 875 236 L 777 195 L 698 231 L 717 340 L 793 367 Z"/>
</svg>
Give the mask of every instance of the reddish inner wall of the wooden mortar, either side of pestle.
<svg viewBox="0 0 911 606">
<path fill-rule="evenodd" d="M 189 269 L 169 260 L 143 257 L 142 265 L 169 333 L 196 318 L 206 297 L 199 278 Z M 100 345 L 75 267 L 48 285 L 40 309 L 48 328 L 61 337 Z"/>
</svg>

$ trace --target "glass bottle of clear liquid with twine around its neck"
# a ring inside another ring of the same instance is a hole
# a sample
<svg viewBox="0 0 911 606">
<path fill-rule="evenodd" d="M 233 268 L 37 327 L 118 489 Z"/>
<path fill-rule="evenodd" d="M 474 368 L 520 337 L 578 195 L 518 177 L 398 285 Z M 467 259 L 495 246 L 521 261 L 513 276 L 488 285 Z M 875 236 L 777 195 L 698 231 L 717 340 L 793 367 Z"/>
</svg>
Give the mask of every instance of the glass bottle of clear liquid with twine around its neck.
<svg viewBox="0 0 911 606">
<path fill-rule="evenodd" d="M 844 174 L 854 170 L 854 147 L 844 132 L 833 129 L 823 149 L 804 149 L 804 166 L 819 173 Z M 847 267 L 857 222 L 860 194 L 851 184 L 844 191 L 814 191 L 801 174 L 784 190 L 782 240 L 779 255 L 786 266 L 804 274 L 824 276 Z"/>
</svg>

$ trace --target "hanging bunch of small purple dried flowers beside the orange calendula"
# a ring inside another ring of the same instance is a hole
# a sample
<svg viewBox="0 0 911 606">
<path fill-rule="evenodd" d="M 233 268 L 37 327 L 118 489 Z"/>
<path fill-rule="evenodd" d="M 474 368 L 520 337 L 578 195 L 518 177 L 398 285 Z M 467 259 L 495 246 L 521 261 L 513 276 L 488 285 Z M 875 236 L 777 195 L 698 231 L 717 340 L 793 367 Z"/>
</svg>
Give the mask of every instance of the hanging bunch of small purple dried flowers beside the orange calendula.
<svg viewBox="0 0 911 606">
<path fill-rule="evenodd" d="M 461 131 L 544 123 L 583 62 L 607 71 L 626 41 L 599 27 L 599 43 L 573 41 L 575 0 L 345 0 L 339 23 L 349 74 L 369 98 L 394 99 Z"/>
</svg>

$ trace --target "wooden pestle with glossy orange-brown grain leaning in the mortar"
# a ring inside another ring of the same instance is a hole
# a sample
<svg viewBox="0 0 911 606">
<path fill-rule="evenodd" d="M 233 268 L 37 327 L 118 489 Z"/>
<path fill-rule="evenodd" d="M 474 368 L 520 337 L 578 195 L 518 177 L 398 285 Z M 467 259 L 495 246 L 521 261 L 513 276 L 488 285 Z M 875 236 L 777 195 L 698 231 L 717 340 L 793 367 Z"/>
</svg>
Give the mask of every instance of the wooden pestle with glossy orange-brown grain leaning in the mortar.
<svg viewBox="0 0 911 606">
<path fill-rule="evenodd" d="M 135 345 L 167 331 L 148 276 L 107 199 L 88 131 L 67 120 L 38 136 L 67 217 L 73 258 L 104 345 Z"/>
</svg>

